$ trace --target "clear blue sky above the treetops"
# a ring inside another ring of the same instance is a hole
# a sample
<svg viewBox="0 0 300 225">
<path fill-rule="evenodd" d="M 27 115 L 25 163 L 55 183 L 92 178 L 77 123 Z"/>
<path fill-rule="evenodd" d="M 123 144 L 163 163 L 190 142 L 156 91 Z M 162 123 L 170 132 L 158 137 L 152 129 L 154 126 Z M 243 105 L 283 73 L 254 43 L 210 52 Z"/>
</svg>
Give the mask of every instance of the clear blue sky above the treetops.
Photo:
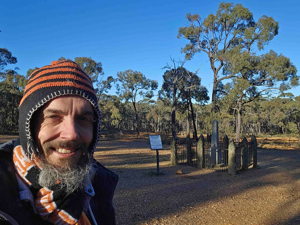
<svg viewBox="0 0 300 225">
<path fill-rule="evenodd" d="M 133 69 L 162 84 L 161 69 L 169 56 L 183 59 L 180 48 L 187 42 L 176 37 L 186 24 L 186 13 L 202 18 L 215 13 L 218 0 L 2 0 L 0 47 L 17 57 L 18 72 L 41 67 L 60 56 L 90 56 L 103 65 L 105 77 Z M 297 0 L 233 0 L 247 7 L 257 20 L 272 16 L 279 33 L 265 47 L 290 58 L 300 70 L 300 28 Z M 212 89 L 212 72 L 204 52 L 185 63 L 199 68 L 202 84 Z M 299 72 L 297 73 L 299 74 Z M 295 96 L 300 87 L 293 88 Z M 115 94 L 113 89 L 110 94 Z M 211 97 L 211 96 L 210 96 Z"/>
</svg>

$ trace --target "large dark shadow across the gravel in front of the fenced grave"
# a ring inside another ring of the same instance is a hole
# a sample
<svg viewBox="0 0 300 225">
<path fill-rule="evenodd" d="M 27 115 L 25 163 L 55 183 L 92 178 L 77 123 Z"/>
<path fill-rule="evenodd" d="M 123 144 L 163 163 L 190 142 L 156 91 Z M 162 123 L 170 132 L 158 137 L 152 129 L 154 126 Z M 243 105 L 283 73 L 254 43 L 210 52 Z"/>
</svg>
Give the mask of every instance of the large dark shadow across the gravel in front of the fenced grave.
<svg viewBox="0 0 300 225">
<path fill-rule="evenodd" d="M 280 157 L 277 157 L 277 151 L 259 150 L 260 168 L 238 172 L 236 176 L 213 170 L 203 170 L 199 173 L 196 168 L 186 165 L 169 166 L 167 157 L 160 161 L 162 163 L 160 171 L 164 175 L 149 176 L 149 171 L 155 170 L 155 164 L 148 167 L 141 164 L 147 164 L 149 160 L 154 161 L 154 155 L 140 153 L 138 156 L 131 154 L 131 157 L 130 153 L 118 154 L 118 161 L 110 161 L 106 164 L 120 177 L 114 197 L 118 224 L 143 223 L 153 218 L 176 215 L 210 201 L 247 193 L 251 189 L 288 185 L 289 181 L 272 179 L 269 177 L 270 174 L 278 173 L 278 176 L 282 176 L 283 171 L 289 171 L 291 180 L 299 179 L 299 169 L 292 170 L 289 163 L 300 159 L 299 151 L 296 152 L 298 156 L 295 156 L 295 151 L 281 151 Z M 128 159 L 130 157 L 131 160 Z M 140 166 L 134 168 L 137 164 Z M 183 171 L 182 175 L 176 174 L 178 169 Z M 247 199 L 249 203 L 255 200 L 255 196 Z M 287 200 L 285 204 L 286 208 L 293 203 Z M 278 205 L 278 208 L 267 216 L 269 221 L 265 221 L 266 224 L 276 223 L 276 214 L 280 211 L 282 208 Z"/>
</svg>

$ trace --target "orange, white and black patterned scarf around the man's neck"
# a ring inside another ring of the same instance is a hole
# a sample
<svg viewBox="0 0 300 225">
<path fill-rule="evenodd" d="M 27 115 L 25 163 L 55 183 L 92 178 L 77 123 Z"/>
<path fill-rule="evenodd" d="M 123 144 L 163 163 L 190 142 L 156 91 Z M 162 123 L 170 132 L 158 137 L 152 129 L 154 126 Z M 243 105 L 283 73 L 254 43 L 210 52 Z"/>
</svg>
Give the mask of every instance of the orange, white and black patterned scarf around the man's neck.
<svg viewBox="0 0 300 225">
<path fill-rule="evenodd" d="M 13 149 L 13 162 L 24 182 L 29 186 L 35 199 L 40 217 L 53 224 L 90 224 L 83 212 L 87 198 L 82 190 L 65 196 L 59 181 L 50 187 L 42 187 L 37 182 L 40 167 L 39 159 L 26 156 L 21 145 Z"/>
</svg>

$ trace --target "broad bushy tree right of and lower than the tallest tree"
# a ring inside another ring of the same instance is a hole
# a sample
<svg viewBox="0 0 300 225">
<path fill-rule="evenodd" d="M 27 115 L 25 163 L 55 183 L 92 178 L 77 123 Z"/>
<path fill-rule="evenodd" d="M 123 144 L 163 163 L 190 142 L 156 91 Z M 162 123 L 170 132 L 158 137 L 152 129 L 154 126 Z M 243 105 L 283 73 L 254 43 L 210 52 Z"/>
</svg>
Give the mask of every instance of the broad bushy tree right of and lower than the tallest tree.
<svg viewBox="0 0 300 225">
<path fill-rule="evenodd" d="M 298 85 L 298 75 L 289 58 L 270 50 L 261 55 L 248 51 L 240 52 L 240 58 L 228 63 L 224 72 L 235 74 L 226 84 L 228 95 L 235 102 L 237 112 L 236 140 L 239 139 L 241 115 L 247 103 L 270 93 L 283 93 Z"/>
</svg>

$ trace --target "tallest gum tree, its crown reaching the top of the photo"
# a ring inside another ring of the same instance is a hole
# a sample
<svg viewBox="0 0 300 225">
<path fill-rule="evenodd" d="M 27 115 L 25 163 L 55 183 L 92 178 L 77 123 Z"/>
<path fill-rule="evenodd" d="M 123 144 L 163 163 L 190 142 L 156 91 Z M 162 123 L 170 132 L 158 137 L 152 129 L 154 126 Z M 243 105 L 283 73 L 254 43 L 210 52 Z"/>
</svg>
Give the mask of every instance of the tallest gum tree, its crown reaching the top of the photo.
<svg viewBox="0 0 300 225">
<path fill-rule="evenodd" d="M 221 68 L 238 56 L 241 48 L 250 51 L 256 43 L 257 49 L 262 49 L 277 34 L 278 22 L 268 16 L 255 22 L 247 8 L 226 2 L 221 2 L 216 13 L 204 19 L 190 13 L 186 18 L 188 25 L 179 28 L 177 37 L 184 37 L 189 43 L 181 51 L 188 60 L 197 52 L 207 54 L 213 71 L 211 112 L 215 112 L 219 83 L 235 76 L 235 73 L 222 75 Z"/>
</svg>

